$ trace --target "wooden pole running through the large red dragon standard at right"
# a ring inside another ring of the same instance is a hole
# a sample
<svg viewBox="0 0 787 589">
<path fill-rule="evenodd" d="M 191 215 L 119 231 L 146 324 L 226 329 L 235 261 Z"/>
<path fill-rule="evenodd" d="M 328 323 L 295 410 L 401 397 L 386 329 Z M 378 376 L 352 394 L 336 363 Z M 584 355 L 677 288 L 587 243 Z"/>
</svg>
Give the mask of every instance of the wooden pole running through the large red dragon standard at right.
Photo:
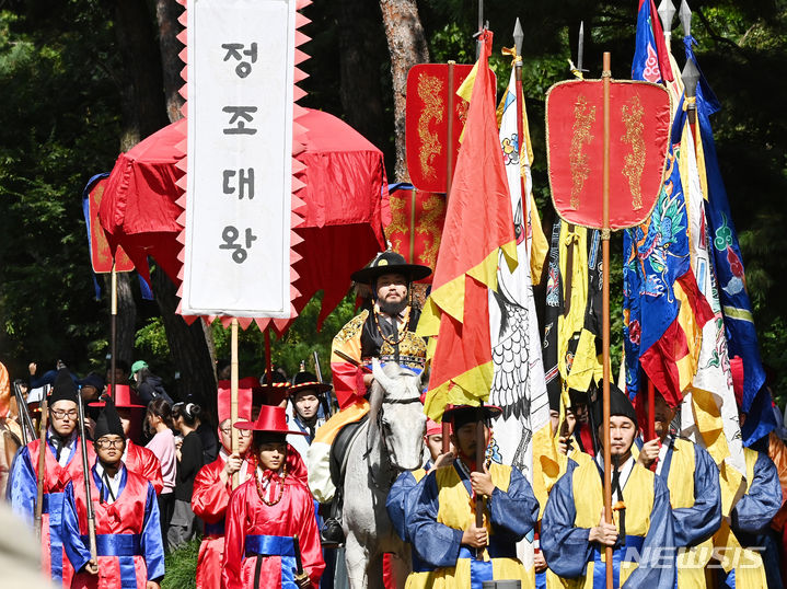
<svg viewBox="0 0 787 589">
<path fill-rule="evenodd" d="M 602 180 L 602 255 L 603 255 L 603 288 L 602 288 L 602 345 L 604 362 L 604 519 L 612 523 L 612 452 L 610 449 L 610 81 L 612 78 L 610 53 L 604 51 L 603 72 L 601 79 L 604 85 L 604 163 Z M 604 548 L 606 558 L 606 587 L 612 589 L 612 547 Z"/>
</svg>

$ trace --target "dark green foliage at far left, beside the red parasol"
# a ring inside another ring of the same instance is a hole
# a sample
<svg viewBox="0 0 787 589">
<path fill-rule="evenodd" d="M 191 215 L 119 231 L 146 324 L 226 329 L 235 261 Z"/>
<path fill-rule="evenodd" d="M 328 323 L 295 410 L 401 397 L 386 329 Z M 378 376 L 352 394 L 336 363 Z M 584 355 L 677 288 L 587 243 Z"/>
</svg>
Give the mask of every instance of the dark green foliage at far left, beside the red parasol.
<svg viewBox="0 0 787 589">
<path fill-rule="evenodd" d="M 91 51 L 111 43 L 108 24 L 95 13 L 90 36 L 73 28 L 85 8 L 54 10 L 65 20 L 53 30 L 0 12 L 0 349 L 16 373 L 60 356 L 86 368 L 108 324 L 93 301 L 80 196 L 114 160 L 117 94 L 112 60 Z"/>
</svg>

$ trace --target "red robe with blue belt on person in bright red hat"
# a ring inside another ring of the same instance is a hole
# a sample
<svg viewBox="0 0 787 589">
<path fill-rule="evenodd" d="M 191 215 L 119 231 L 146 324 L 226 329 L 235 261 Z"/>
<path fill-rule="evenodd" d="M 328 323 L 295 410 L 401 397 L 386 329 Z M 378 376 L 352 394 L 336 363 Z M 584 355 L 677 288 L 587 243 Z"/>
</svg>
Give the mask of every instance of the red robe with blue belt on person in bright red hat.
<svg viewBox="0 0 787 589">
<path fill-rule="evenodd" d="M 259 498 L 255 478 L 240 485 L 230 497 L 225 512 L 227 538 L 221 570 L 222 589 L 254 588 L 259 561 L 259 588 L 297 589 L 292 536 L 298 535 L 303 569 L 317 589 L 325 569 L 320 532 L 314 517 L 314 499 L 305 484 L 303 461 L 288 446 L 287 476 L 281 499 L 271 506 Z M 265 475 L 269 475 L 265 471 Z M 281 480 L 273 475 L 278 497 Z M 253 553 L 264 553 L 256 556 Z"/>
</svg>

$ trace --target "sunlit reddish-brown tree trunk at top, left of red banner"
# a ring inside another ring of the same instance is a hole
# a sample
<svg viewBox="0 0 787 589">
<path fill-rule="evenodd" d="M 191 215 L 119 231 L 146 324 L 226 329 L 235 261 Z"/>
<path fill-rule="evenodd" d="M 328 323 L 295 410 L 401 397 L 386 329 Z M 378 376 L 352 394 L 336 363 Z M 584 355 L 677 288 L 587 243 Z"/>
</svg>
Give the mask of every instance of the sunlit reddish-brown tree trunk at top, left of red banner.
<svg viewBox="0 0 787 589">
<path fill-rule="evenodd" d="M 407 72 L 416 63 L 429 60 L 424 27 L 418 18 L 416 0 L 380 0 L 385 37 L 391 53 L 391 76 L 394 93 L 394 130 L 396 132 L 396 182 L 405 182 L 405 100 Z"/>
</svg>

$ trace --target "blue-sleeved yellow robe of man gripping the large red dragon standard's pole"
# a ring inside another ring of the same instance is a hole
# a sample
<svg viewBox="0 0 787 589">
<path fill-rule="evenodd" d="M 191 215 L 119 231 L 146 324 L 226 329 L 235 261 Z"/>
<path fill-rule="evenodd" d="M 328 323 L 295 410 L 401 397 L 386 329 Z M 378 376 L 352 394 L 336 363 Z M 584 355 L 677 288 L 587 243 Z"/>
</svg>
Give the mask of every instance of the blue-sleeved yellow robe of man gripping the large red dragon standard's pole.
<svg viewBox="0 0 787 589">
<path fill-rule="evenodd" d="M 593 472 L 595 472 L 594 475 Z M 582 485 L 581 497 L 575 495 L 575 476 L 581 476 L 582 481 L 592 481 L 593 483 L 592 485 Z M 634 486 L 635 476 L 640 481 L 640 488 Z M 639 505 L 643 503 L 639 497 L 646 495 L 643 492 L 649 490 L 641 487 L 641 481 L 650 480 L 652 480 L 652 499 L 648 499 L 649 505 Z M 650 471 L 635 464 L 632 475 L 623 488 L 623 496 L 627 505 L 627 536 L 625 546 L 621 546 L 618 541 L 614 548 L 614 587 L 672 589 L 675 584 L 675 557 L 674 552 L 669 548 L 674 546 L 674 533 L 667 485 Z M 577 506 L 589 500 L 592 500 L 591 503 L 595 507 L 603 506 L 603 473 L 595 462 L 577 465 L 576 462 L 569 461 L 566 474 L 552 487 L 549 499 L 546 503 L 541 524 L 541 550 L 544 552 L 547 565 L 558 576 L 568 579 L 583 577 L 583 587 L 604 589 L 606 587 L 604 577 L 606 565 L 601 562 L 600 556 L 603 553 L 603 547 L 590 542 L 590 528 L 580 528 L 575 524 Z M 638 509 L 637 506 L 639 506 Z M 649 513 L 641 512 L 647 508 L 649 508 Z M 592 518 L 592 521 L 595 522 L 593 526 L 595 526 L 600 519 L 601 509 L 593 508 L 593 510 L 594 513 L 586 513 L 586 516 L 588 519 Z M 647 532 L 644 535 L 634 533 L 637 529 L 637 521 L 647 522 Z M 627 569 L 632 566 L 629 564 L 632 561 L 626 558 L 627 554 L 629 556 L 638 554 L 639 558 L 636 568 L 621 584 L 621 561 L 625 563 Z M 592 565 L 592 570 L 589 565 Z"/>
</svg>

